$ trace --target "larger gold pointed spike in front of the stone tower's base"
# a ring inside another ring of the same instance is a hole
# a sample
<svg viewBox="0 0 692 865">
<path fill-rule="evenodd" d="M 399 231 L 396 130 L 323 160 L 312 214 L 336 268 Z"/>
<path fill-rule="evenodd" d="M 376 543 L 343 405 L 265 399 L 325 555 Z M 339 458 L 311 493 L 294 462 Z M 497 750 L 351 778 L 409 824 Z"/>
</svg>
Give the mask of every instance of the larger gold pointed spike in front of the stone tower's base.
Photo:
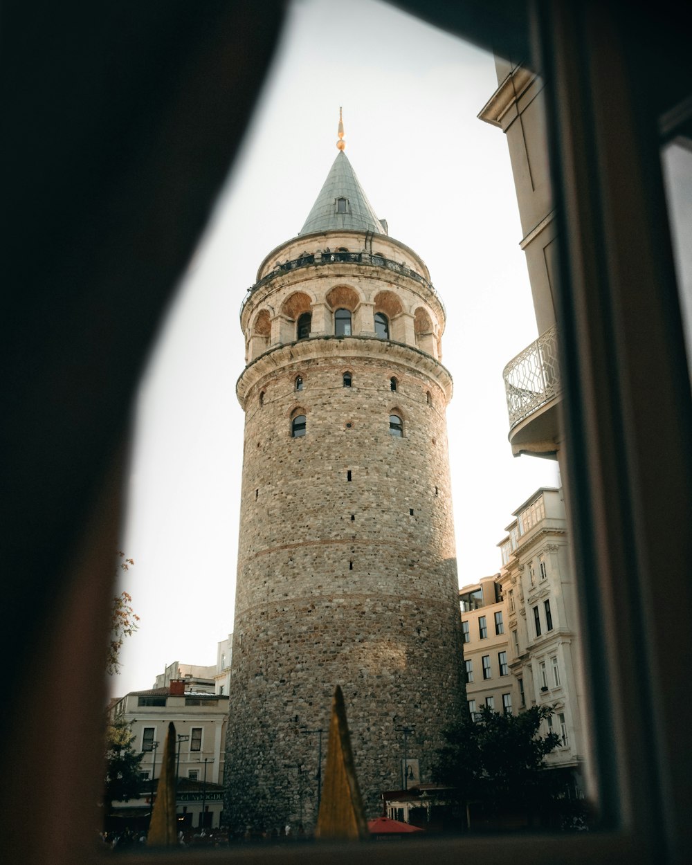
<svg viewBox="0 0 692 865">
<path fill-rule="evenodd" d="M 368 823 L 351 752 L 343 692 L 336 685 L 331 701 L 327 765 L 315 837 L 328 841 L 358 841 L 368 836 Z"/>
</svg>

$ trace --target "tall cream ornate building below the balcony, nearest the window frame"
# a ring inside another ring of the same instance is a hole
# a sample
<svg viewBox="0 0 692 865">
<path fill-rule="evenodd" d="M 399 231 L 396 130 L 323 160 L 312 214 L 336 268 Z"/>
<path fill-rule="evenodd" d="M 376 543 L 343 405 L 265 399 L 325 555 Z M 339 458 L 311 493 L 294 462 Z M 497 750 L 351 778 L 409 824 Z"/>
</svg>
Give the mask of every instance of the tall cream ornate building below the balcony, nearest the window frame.
<svg viewBox="0 0 692 865">
<path fill-rule="evenodd" d="M 558 734 L 561 745 L 547 761 L 550 766 L 569 768 L 579 785 L 585 757 L 584 695 L 561 490 L 536 490 L 514 516 L 508 535 L 498 545 L 503 561 L 498 584 L 504 598 L 517 708 L 554 707 L 544 732 Z"/>
</svg>

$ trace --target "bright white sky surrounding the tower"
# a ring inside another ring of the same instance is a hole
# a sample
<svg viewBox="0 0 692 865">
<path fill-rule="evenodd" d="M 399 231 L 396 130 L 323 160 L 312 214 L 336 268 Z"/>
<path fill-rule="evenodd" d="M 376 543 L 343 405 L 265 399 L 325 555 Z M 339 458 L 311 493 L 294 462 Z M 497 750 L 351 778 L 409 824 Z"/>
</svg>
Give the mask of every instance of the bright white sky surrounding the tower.
<svg viewBox="0 0 692 865">
<path fill-rule="evenodd" d="M 213 86 L 213 82 L 210 82 Z M 477 119 L 490 54 L 375 0 L 298 0 L 282 48 L 138 394 L 121 548 L 141 618 L 112 680 L 150 688 L 173 661 L 212 664 L 233 630 L 244 367 L 240 303 L 298 233 L 346 153 L 389 232 L 445 301 L 443 362 L 459 584 L 496 573 L 511 513 L 557 464 L 513 458 L 503 366 L 537 336 L 503 132 Z"/>
</svg>

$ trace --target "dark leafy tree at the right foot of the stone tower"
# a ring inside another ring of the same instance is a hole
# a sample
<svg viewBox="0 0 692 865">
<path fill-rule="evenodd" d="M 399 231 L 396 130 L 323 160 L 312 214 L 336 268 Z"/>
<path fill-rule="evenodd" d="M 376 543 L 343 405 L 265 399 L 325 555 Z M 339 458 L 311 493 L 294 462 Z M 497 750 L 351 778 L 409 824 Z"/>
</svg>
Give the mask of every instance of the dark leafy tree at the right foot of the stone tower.
<svg viewBox="0 0 692 865">
<path fill-rule="evenodd" d="M 445 731 L 432 778 L 454 788 L 463 804 L 480 805 L 497 820 L 526 811 L 529 823 L 547 812 L 561 811 L 567 779 L 548 770 L 545 757 L 560 745 L 554 733 L 539 734 L 553 707 L 534 706 L 522 714 L 498 714 L 489 708 L 467 715 Z"/>
</svg>

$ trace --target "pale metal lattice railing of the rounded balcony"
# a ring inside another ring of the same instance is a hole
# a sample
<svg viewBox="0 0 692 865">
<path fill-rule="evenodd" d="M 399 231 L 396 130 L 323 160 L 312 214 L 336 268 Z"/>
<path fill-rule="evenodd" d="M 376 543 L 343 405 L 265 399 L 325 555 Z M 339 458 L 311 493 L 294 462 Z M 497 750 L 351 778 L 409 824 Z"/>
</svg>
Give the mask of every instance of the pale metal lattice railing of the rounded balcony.
<svg viewBox="0 0 692 865">
<path fill-rule="evenodd" d="M 555 324 L 509 361 L 503 379 L 510 430 L 561 394 Z"/>
</svg>

